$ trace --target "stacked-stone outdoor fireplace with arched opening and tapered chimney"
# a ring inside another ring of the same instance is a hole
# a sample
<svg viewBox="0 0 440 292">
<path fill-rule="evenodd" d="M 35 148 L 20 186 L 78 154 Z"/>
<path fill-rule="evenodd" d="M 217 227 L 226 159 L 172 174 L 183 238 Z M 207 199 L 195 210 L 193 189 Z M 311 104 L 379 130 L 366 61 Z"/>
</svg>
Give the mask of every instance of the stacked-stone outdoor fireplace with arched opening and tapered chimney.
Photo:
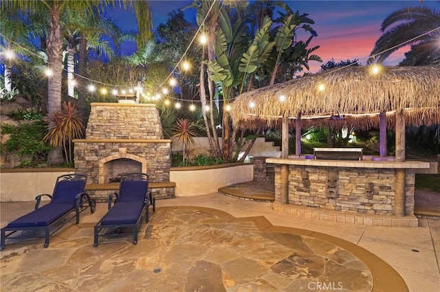
<svg viewBox="0 0 440 292">
<path fill-rule="evenodd" d="M 123 173 L 143 172 L 150 182 L 169 182 L 171 141 L 164 139 L 154 104 L 92 103 L 85 134 L 74 141 L 74 162 L 76 171 L 94 185 L 89 195 L 107 200 L 115 188 L 109 184 Z M 157 198 L 175 196 L 172 187 L 152 191 Z"/>
</svg>

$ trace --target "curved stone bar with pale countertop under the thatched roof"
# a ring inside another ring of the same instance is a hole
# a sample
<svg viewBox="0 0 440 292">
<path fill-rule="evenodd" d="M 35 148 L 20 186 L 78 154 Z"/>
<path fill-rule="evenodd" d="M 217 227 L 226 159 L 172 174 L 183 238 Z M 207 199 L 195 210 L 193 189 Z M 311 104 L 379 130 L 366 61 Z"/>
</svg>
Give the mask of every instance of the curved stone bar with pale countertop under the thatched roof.
<svg viewBox="0 0 440 292">
<path fill-rule="evenodd" d="M 274 210 L 327 221 L 418 226 L 415 169 L 429 168 L 429 162 L 301 158 L 266 162 L 275 165 Z"/>
</svg>

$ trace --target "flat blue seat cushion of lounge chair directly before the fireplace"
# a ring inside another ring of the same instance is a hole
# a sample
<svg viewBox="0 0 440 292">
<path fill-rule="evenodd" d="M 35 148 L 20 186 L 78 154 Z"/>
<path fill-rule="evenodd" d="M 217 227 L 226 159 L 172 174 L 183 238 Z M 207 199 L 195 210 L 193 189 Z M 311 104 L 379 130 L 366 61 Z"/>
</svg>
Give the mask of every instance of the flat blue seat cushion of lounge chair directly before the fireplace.
<svg viewBox="0 0 440 292">
<path fill-rule="evenodd" d="M 140 202 L 116 202 L 102 218 L 102 225 L 135 224 L 144 204 Z"/>
</svg>

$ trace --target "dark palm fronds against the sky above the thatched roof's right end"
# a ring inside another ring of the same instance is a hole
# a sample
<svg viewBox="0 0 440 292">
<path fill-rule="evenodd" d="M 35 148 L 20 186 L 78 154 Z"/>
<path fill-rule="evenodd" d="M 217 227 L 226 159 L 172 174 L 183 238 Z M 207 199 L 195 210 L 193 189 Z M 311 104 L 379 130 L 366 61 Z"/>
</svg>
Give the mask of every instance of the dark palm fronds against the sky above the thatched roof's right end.
<svg viewBox="0 0 440 292">
<path fill-rule="evenodd" d="M 382 22 L 382 36 L 371 51 L 370 63 L 382 63 L 394 51 L 411 45 L 406 65 L 440 62 L 440 11 L 427 7 L 408 7 L 390 14 Z"/>
</svg>

